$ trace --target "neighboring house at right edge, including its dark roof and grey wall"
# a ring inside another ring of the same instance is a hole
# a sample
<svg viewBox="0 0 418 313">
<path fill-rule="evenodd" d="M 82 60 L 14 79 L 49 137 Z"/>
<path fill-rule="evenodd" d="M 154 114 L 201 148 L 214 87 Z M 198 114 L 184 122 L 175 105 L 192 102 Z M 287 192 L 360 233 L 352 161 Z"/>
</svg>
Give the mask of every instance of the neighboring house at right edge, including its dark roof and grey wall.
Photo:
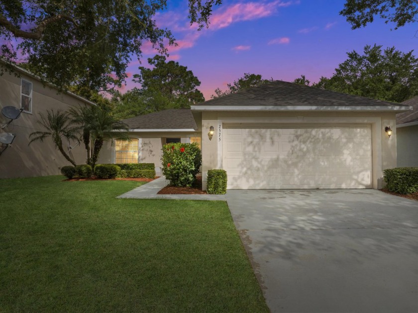
<svg viewBox="0 0 418 313">
<path fill-rule="evenodd" d="M 414 110 L 396 115 L 396 141 L 398 167 L 418 167 L 418 96 L 402 104 Z"/>
</svg>

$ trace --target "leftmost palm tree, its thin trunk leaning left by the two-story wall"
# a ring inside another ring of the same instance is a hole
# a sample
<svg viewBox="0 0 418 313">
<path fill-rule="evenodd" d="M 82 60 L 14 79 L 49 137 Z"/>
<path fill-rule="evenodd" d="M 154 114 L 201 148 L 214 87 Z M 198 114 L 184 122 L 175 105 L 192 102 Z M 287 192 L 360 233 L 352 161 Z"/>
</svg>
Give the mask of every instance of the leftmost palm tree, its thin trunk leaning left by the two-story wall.
<svg viewBox="0 0 418 313">
<path fill-rule="evenodd" d="M 47 137 L 51 137 L 52 141 L 54 142 L 55 148 L 57 148 L 64 158 L 67 159 L 68 162 L 76 166 L 76 162 L 72 160 L 68 154 L 64 151 L 62 147 L 62 140 L 67 139 L 79 141 L 79 131 L 80 127 L 74 126 L 72 119 L 68 116 L 68 113 L 61 112 L 59 109 L 54 112 L 54 110 L 47 110 L 47 115 L 45 116 L 42 113 L 38 113 L 40 119 L 37 120 L 37 123 L 40 124 L 45 128 L 45 131 L 35 131 L 29 135 L 29 138 L 32 139 L 29 141 L 31 144 L 33 141 L 40 141 Z"/>
</svg>

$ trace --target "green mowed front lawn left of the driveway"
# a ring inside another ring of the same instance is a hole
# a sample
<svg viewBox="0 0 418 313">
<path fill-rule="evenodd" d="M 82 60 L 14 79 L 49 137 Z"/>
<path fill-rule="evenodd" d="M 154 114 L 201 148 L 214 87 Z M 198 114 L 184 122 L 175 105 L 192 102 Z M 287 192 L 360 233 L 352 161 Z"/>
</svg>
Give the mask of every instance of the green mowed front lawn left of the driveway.
<svg viewBox="0 0 418 313">
<path fill-rule="evenodd" d="M 0 180 L 0 312 L 268 312 L 224 202 Z"/>
</svg>

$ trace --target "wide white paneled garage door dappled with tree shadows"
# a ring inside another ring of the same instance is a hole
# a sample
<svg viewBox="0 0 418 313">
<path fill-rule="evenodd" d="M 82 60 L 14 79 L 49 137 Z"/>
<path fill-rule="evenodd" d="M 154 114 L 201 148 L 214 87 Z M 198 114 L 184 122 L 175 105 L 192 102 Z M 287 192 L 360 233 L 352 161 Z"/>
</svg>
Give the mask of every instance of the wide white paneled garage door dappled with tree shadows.
<svg viewBox="0 0 418 313">
<path fill-rule="evenodd" d="M 223 125 L 228 189 L 371 188 L 370 125 Z"/>
</svg>

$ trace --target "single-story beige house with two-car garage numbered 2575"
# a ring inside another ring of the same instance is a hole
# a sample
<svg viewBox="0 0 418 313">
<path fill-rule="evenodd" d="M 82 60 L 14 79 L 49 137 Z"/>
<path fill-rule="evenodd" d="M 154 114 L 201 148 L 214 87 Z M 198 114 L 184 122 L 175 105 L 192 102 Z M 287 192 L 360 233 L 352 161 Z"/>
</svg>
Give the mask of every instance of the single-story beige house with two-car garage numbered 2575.
<svg viewBox="0 0 418 313">
<path fill-rule="evenodd" d="M 411 109 L 275 81 L 126 119 L 133 140 L 115 139 L 100 161 L 152 162 L 161 175 L 163 144 L 199 142 L 203 189 L 209 169 L 226 170 L 228 189 L 378 189 L 397 166 L 396 114 Z"/>
</svg>

